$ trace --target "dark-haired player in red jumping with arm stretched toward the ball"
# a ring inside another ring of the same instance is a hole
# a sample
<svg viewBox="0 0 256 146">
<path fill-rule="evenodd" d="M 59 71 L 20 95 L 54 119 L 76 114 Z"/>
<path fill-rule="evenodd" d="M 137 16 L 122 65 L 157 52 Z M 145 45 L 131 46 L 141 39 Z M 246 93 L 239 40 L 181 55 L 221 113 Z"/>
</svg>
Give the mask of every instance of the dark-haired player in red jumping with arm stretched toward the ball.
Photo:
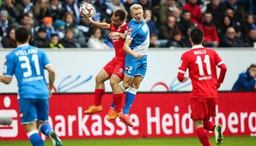
<svg viewBox="0 0 256 146">
<path fill-rule="evenodd" d="M 146 20 L 149 21 L 150 15 L 149 13 L 147 14 Z M 123 91 L 119 88 L 119 82 L 124 79 L 125 50 L 123 46 L 125 44 L 128 26 L 128 23 L 125 22 L 125 11 L 122 9 L 116 10 L 113 13 L 112 22 L 110 24 L 96 22 L 91 17 L 85 19 L 94 26 L 98 26 L 102 29 L 111 29 L 109 37 L 113 41 L 115 56 L 113 60 L 109 61 L 107 65 L 101 69 L 101 72 L 97 74 L 95 79 L 94 105 L 88 107 L 88 109 L 84 111 L 84 114 L 94 114 L 102 111 L 101 98 L 105 93 L 104 82 L 110 79 L 110 85 L 113 90 L 113 104 L 109 109 L 107 120 L 114 120 L 121 112 L 123 97 Z"/>
</svg>

